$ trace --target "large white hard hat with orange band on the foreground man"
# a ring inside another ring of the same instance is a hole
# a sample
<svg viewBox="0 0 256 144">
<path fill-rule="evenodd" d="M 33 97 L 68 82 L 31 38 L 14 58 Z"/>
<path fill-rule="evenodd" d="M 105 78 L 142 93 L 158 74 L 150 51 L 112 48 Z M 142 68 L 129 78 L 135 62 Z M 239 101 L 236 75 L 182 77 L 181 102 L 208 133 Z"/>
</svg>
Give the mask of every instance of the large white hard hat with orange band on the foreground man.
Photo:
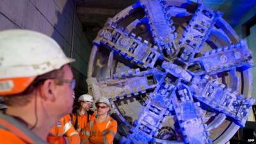
<svg viewBox="0 0 256 144">
<path fill-rule="evenodd" d="M 47 35 L 21 29 L 0 31 L 0 95 L 23 92 L 36 76 L 72 61 Z"/>
</svg>

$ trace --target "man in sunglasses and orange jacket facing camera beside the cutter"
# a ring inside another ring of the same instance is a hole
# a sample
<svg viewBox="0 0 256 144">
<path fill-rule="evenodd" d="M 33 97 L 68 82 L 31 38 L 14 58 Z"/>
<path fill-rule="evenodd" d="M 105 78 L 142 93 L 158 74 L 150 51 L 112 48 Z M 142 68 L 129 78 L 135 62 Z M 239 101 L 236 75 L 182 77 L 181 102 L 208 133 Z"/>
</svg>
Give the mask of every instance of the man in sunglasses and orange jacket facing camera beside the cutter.
<svg viewBox="0 0 256 144">
<path fill-rule="evenodd" d="M 86 125 L 86 137 L 81 143 L 113 144 L 117 131 L 117 122 L 108 115 L 110 102 L 106 97 L 100 97 L 95 105 L 97 108 L 97 117 Z"/>
</svg>

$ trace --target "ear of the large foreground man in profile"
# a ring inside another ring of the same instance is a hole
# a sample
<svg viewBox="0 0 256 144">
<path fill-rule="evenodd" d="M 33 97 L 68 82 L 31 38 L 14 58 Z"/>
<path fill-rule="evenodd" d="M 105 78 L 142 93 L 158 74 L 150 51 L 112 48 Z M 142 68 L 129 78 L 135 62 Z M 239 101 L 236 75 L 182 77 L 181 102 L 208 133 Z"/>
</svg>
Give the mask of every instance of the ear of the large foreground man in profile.
<svg viewBox="0 0 256 144">
<path fill-rule="evenodd" d="M 40 95 L 42 99 L 54 102 L 56 99 L 55 87 L 56 84 L 54 84 L 52 79 L 45 80 L 44 83 L 40 86 Z"/>
</svg>

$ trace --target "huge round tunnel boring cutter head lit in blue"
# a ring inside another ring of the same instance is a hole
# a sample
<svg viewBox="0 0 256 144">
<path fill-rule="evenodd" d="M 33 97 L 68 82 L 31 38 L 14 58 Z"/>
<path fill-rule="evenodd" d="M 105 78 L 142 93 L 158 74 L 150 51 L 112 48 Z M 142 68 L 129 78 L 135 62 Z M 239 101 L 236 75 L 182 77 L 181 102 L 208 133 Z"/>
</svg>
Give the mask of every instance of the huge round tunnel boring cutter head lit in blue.
<svg viewBox="0 0 256 144">
<path fill-rule="evenodd" d="M 88 90 L 108 97 L 120 143 L 226 143 L 254 103 L 252 55 L 221 13 L 140 0 L 93 41 Z"/>
</svg>

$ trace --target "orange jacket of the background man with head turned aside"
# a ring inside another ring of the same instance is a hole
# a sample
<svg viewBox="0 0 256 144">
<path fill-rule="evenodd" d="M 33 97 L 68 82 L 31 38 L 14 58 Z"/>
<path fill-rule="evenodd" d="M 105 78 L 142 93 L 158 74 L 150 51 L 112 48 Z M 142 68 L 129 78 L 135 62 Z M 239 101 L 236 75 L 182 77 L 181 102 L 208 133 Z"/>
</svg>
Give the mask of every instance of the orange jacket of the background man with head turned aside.
<svg viewBox="0 0 256 144">
<path fill-rule="evenodd" d="M 75 127 L 76 131 L 79 133 L 79 136 L 82 138 L 85 135 L 85 127 L 90 122 L 90 120 L 95 120 L 96 114 L 89 110 L 84 113 L 84 115 L 80 115 L 78 109 L 74 110 L 74 113 L 71 113 L 72 125 Z"/>
</svg>

